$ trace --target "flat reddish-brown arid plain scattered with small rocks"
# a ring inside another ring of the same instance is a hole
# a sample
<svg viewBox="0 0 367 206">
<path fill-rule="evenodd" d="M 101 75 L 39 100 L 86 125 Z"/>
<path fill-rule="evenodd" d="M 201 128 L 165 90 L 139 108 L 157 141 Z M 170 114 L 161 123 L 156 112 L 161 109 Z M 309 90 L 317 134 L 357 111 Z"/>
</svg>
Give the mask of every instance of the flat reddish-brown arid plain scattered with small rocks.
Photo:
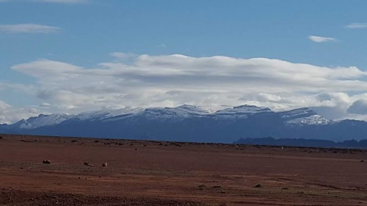
<svg viewBox="0 0 367 206">
<path fill-rule="evenodd" d="M 0 205 L 367 205 L 366 150 L 0 136 Z"/>
</svg>

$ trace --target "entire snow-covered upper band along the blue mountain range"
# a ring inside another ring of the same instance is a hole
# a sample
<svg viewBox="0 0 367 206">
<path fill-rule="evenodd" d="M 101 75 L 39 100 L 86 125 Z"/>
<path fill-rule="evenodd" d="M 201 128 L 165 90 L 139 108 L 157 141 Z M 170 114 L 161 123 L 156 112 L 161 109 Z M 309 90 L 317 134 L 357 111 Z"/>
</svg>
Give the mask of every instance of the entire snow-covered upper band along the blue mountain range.
<svg viewBox="0 0 367 206">
<path fill-rule="evenodd" d="M 285 124 L 329 124 L 328 120 L 309 108 L 299 108 L 290 111 L 274 112 L 267 107 L 254 105 L 240 105 L 231 108 L 217 110 L 215 112 L 206 108 L 184 104 L 177 107 L 154 107 L 154 108 L 121 108 L 111 110 L 87 111 L 79 114 L 40 114 L 8 125 L 11 128 L 34 129 L 46 125 L 55 125 L 67 120 L 76 121 L 118 121 L 130 117 L 145 117 L 150 120 L 164 121 L 166 119 L 181 121 L 186 118 L 214 118 L 214 119 L 238 119 L 249 116 L 280 115 Z"/>
</svg>

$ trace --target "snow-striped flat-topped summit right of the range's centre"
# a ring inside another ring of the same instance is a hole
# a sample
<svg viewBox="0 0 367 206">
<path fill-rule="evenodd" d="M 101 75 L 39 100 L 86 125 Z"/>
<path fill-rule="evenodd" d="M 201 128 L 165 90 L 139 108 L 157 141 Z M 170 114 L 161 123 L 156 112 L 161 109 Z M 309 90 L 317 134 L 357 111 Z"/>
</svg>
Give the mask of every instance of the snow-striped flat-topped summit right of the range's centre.
<svg viewBox="0 0 367 206">
<path fill-rule="evenodd" d="M 240 105 L 233 108 L 227 108 L 223 110 L 218 110 L 211 115 L 221 118 L 247 118 L 249 115 L 261 115 L 274 113 L 267 107 L 258 107 L 254 105 Z"/>
</svg>

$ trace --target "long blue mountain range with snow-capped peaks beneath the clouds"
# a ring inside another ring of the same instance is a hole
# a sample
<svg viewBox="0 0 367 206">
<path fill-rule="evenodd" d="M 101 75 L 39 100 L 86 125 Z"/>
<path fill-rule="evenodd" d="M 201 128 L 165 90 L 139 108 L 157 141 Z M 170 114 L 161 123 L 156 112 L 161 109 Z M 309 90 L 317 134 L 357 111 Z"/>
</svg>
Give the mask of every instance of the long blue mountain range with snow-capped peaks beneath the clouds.
<svg viewBox="0 0 367 206">
<path fill-rule="evenodd" d="M 340 142 L 366 139 L 367 122 L 332 121 L 310 108 L 275 112 L 266 107 L 240 105 L 211 112 L 184 104 L 71 115 L 40 114 L 14 124 L 0 124 L 0 133 L 218 143 L 270 136 Z"/>
</svg>

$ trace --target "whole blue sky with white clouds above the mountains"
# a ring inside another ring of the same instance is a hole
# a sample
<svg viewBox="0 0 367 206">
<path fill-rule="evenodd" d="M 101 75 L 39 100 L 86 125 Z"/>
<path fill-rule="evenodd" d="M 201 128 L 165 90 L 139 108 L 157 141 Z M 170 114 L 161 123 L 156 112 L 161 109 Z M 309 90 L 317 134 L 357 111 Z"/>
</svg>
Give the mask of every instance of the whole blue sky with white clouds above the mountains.
<svg viewBox="0 0 367 206">
<path fill-rule="evenodd" d="M 252 104 L 367 120 L 366 0 L 0 0 L 0 124 Z"/>
</svg>

